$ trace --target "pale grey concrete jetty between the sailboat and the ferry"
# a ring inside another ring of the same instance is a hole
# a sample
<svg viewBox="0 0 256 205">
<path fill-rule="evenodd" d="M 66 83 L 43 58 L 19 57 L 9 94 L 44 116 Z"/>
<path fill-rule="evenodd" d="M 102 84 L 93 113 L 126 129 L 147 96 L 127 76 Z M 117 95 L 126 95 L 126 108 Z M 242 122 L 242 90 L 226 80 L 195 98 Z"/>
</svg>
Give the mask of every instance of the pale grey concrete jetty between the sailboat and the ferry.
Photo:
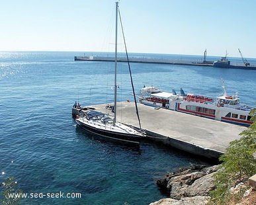
<svg viewBox="0 0 256 205">
<path fill-rule="evenodd" d="M 92 107 L 113 114 L 106 110 L 106 105 L 97 104 Z M 246 129 L 243 126 L 164 108 L 157 110 L 140 103 L 138 110 L 143 129 L 155 136 L 167 137 L 159 141 L 207 158 L 220 157 L 230 142 L 239 139 L 239 133 Z M 119 122 L 139 127 L 134 102 L 118 102 L 116 113 Z"/>
</svg>

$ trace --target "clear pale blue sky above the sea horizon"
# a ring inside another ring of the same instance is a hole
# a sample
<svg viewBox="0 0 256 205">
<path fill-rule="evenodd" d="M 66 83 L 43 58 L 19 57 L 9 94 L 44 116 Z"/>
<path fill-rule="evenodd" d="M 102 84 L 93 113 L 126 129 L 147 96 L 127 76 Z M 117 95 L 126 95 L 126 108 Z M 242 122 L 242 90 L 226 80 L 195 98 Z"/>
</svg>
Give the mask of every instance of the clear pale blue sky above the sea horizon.
<svg viewBox="0 0 256 205">
<path fill-rule="evenodd" d="M 114 0 L 1 2 L 0 50 L 108 52 Z M 256 1 L 121 0 L 128 52 L 256 58 Z"/>
</svg>

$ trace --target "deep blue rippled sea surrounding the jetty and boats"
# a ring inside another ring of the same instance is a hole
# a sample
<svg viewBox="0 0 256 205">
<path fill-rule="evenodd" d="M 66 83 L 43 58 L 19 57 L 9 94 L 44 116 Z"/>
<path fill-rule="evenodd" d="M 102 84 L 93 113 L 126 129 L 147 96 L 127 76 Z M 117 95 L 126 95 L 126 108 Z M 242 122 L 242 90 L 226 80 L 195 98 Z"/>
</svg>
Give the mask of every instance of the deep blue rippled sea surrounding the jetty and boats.
<svg viewBox="0 0 256 205">
<path fill-rule="evenodd" d="M 166 197 L 157 179 L 180 167 L 211 164 L 153 142 L 139 148 L 116 144 L 76 126 L 71 116 L 75 101 L 91 106 L 114 99 L 114 63 L 74 61 L 83 55 L 0 52 L 1 190 L 5 179 L 15 177 L 17 188 L 27 194 L 19 204 L 144 205 Z M 202 56 L 131 55 L 202 61 Z M 255 70 L 149 63 L 130 67 L 138 95 L 144 85 L 153 85 L 166 92 L 179 93 L 182 87 L 185 93 L 216 97 L 224 85 L 228 95 L 239 93 L 241 103 L 256 104 Z M 118 101 L 134 101 L 127 63 L 118 63 L 117 84 Z"/>
</svg>

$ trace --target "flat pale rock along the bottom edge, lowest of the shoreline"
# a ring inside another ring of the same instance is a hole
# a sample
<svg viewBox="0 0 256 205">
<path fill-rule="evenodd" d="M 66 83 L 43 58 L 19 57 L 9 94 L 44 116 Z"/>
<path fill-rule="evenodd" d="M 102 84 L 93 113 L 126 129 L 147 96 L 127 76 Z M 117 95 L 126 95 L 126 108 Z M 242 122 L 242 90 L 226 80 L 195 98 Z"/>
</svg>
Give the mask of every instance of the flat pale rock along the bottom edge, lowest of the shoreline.
<svg viewBox="0 0 256 205">
<path fill-rule="evenodd" d="M 210 196 L 184 197 L 181 198 L 181 200 L 175 200 L 173 198 L 163 198 L 149 205 L 206 205 L 209 200 Z"/>
</svg>

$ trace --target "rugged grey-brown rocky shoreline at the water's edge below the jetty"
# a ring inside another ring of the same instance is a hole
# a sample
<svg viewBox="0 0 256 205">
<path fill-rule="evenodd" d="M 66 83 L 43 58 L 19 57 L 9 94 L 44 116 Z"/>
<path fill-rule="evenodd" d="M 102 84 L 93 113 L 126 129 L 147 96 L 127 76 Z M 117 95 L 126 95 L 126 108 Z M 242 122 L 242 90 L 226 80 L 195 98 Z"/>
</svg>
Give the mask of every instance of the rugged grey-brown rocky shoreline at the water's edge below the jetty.
<svg viewBox="0 0 256 205">
<path fill-rule="evenodd" d="M 157 186 L 162 192 L 168 193 L 170 198 L 149 205 L 207 204 L 210 200 L 208 193 L 215 188 L 212 175 L 218 166 L 192 165 L 169 173 L 157 181 Z"/>
</svg>

